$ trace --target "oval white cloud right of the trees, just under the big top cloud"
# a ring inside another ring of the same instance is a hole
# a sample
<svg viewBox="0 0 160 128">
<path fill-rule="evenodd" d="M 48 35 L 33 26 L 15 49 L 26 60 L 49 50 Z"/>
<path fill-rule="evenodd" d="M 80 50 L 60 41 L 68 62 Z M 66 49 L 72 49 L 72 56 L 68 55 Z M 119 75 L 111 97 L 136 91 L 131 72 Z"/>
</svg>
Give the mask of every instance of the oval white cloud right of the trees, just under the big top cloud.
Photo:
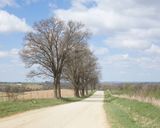
<svg viewBox="0 0 160 128">
<path fill-rule="evenodd" d="M 142 30 L 130 30 L 130 32 L 123 32 L 113 37 L 106 39 L 106 44 L 111 47 L 133 49 L 133 50 L 145 50 L 151 47 L 152 41 L 148 37 L 147 32 Z M 152 38 L 152 37 L 151 37 Z"/>
</svg>

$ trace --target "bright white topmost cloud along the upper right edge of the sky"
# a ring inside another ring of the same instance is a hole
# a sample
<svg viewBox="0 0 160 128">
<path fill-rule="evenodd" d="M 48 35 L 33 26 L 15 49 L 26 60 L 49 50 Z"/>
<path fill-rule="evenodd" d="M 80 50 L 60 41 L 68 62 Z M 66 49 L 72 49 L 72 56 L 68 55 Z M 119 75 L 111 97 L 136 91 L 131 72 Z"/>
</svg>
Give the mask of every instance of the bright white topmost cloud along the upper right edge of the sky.
<svg viewBox="0 0 160 128">
<path fill-rule="evenodd" d="M 96 2 L 97 6 L 87 8 L 84 4 L 87 2 L 90 4 Z M 80 20 L 90 28 L 97 29 L 97 32 L 100 33 L 160 26 L 158 21 L 150 18 L 150 16 L 157 14 L 156 10 L 136 3 L 134 0 L 120 0 L 118 2 L 117 0 L 76 0 L 72 2 L 70 9 L 57 9 L 55 14 L 65 20 Z M 141 18 L 142 16 L 145 17 Z"/>
</svg>

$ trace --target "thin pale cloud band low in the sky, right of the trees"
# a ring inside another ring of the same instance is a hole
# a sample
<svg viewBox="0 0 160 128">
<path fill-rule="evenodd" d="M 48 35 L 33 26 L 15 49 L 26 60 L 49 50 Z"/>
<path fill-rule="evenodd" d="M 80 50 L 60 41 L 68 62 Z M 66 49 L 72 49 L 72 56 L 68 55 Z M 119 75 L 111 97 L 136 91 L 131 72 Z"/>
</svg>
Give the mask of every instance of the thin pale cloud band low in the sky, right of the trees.
<svg viewBox="0 0 160 128">
<path fill-rule="evenodd" d="M 101 65 L 126 69 L 160 69 L 160 56 L 130 56 L 129 54 L 109 55 L 104 58 Z"/>
</svg>

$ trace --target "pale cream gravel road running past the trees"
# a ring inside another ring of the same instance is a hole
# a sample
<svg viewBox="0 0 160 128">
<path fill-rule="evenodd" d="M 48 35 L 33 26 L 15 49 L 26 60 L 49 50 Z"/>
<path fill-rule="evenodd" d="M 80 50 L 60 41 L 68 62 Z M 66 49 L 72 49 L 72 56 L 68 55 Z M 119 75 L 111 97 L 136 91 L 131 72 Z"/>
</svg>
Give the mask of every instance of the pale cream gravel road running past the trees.
<svg viewBox="0 0 160 128">
<path fill-rule="evenodd" d="M 80 102 L 47 107 L 0 119 L 0 128 L 109 128 L 103 91 Z"/>
</svg>

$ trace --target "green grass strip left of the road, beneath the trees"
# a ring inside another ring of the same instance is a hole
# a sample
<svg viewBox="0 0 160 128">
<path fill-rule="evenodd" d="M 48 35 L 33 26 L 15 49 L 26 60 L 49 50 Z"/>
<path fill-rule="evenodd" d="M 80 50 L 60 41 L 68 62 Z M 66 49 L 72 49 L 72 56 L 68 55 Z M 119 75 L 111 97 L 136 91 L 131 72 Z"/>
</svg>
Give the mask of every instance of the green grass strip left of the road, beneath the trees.
<svg viewBox="0 0 160 128">
<path fill-rule="evenodd" d="M 80 101 L 91 95 L 93 95 L 93 93 L 89 94 L 88 96 L 80 97 L 80 98 L 67 97 L 62 99 L 32 99 L 32 100 L 24 100 L 24 101 L 0 102 L 0 118 L 25 112 L 32 109 L 38 109 L 42 107 L 49 107 L 49 106 L 55 106 L 55 105 Z"/>
</svg>

